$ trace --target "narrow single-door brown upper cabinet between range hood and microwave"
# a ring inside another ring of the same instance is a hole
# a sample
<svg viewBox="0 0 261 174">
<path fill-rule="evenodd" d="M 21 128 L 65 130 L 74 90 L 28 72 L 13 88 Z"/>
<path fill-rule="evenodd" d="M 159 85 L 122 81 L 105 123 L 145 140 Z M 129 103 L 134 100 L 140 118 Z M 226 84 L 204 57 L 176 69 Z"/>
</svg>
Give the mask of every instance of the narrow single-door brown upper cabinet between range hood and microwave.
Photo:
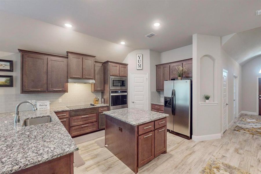
<svg viewBox="0 0 261 174">
<path fill-rule="evenodd" d="M 91 84 L 91 91 L 104 91 L 104 69 L 102 62 L 94 62 L 94 80 L 95 84 Z"/>
</svg>

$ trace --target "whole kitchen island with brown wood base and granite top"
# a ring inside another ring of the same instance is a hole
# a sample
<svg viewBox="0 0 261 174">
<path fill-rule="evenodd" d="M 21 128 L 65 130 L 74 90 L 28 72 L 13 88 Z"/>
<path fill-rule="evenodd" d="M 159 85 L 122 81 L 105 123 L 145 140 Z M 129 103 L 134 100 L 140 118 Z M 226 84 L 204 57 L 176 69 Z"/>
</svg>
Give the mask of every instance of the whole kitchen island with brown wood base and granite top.
<svg viewBox="0 0 261 174">
<path fill-rule="evenodd" d="M 169 115 L 138 108 L 105 113 L 105 147 L 134 173 L 162 153 L 167 153 Z"/>
</svg>

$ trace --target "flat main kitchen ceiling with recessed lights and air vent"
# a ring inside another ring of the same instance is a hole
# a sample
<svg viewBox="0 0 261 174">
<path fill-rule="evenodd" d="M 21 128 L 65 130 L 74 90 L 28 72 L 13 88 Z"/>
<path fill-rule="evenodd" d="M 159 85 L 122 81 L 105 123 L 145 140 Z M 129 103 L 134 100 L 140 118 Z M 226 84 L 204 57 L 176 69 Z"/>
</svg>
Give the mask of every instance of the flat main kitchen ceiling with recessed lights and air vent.
<svg viewBox="0 0 261 174">
<path fill-rule="evenodd" d="M 195 33 L 225 36 L 260 27 L 259 9 L 261 0 L 0 1 L 0 10 L 61 27 L 72 23 L 74 31 L 158 52 L 192 44 Z M 157 36 L 145 37 L 150 32 Z"/>
</svg>

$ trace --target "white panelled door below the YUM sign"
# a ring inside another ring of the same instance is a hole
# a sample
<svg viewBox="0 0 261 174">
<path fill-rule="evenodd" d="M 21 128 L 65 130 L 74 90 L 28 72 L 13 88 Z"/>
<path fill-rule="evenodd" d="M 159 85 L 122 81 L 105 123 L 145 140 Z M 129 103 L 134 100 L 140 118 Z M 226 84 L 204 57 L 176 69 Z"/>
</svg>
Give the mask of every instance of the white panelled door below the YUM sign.
<svg viewBox="0 0 261 174">
<path fill-rule="evenodd" d="M 131 107 L 140 109 L 149 109 L 149 74 L 131 73 Z"/>
</svg>

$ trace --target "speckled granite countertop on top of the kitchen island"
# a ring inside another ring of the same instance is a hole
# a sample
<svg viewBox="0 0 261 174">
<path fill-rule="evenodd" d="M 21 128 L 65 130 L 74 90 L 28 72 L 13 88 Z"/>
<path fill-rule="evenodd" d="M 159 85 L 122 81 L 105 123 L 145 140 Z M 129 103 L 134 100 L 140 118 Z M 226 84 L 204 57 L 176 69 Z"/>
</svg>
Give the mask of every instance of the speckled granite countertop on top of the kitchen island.
<svg viewBox="0 0 261 174">
<path fill-rule="evenodd" d="M 123 108 L 103 112 L 106 115 L 119 119 L 123 122 L 137 126 L 157 119 L 168 117 L 168 114 L 143 110 L 138 108 Z"/>
</svg>

